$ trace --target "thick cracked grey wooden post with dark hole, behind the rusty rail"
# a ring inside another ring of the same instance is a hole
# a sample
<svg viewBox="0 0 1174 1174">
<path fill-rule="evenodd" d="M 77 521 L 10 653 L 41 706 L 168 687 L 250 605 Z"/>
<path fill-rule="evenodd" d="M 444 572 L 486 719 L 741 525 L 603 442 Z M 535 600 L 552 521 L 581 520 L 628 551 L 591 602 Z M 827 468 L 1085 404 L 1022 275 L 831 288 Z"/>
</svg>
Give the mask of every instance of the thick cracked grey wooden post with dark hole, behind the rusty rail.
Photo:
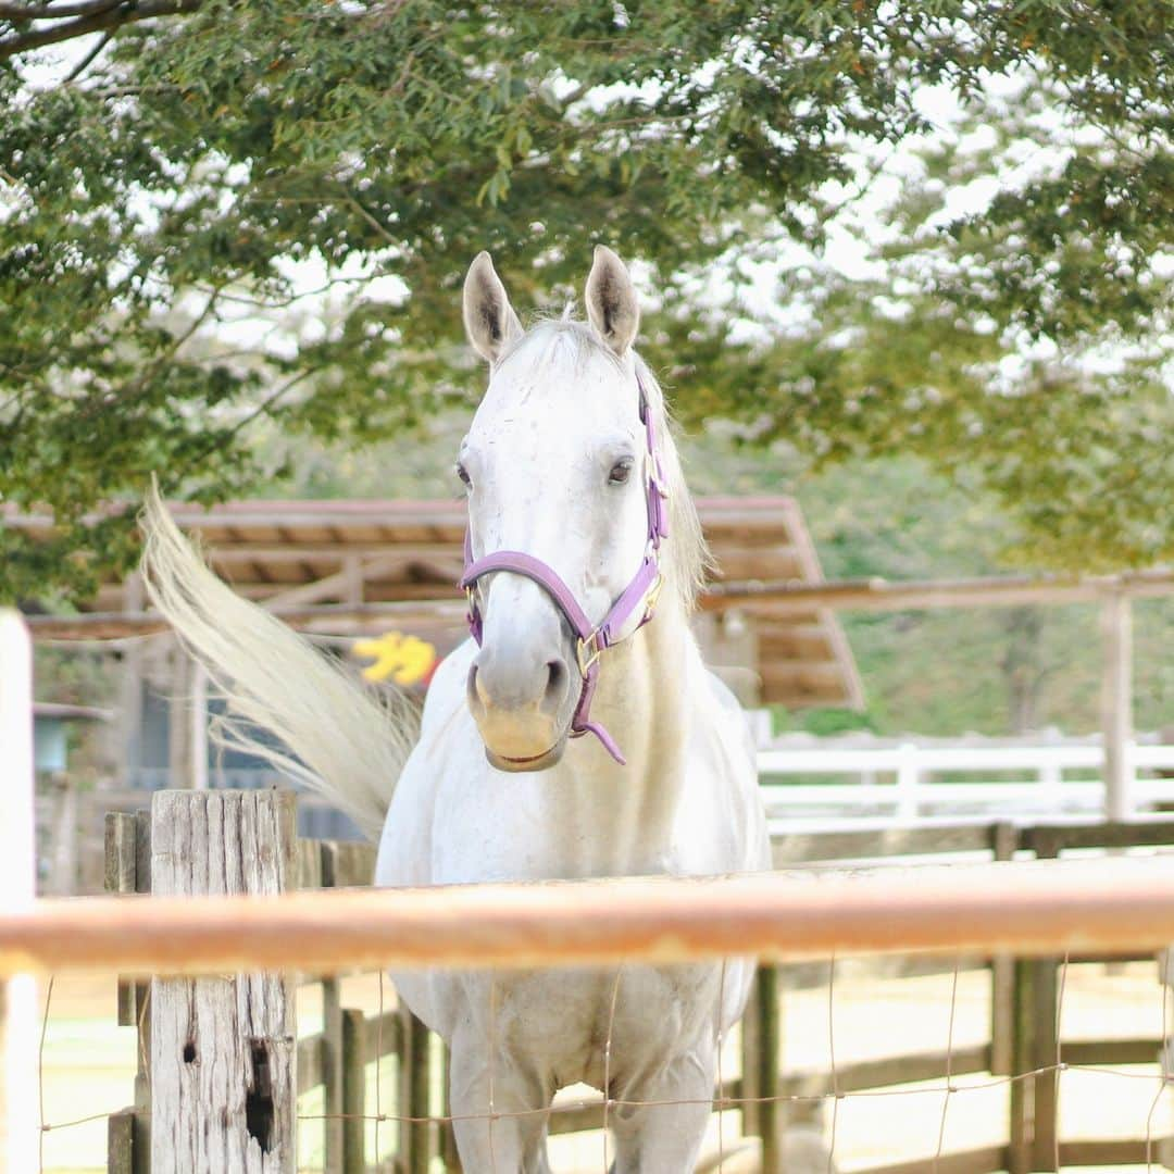
<svg viewBox="0 0 1174 1174">
<path fill-rule="evenodd" d="M 292 889 L 288 791 L 160 791 L 156 896 Z M 151 981 L 151 1166 L 174 1174 L 294 1174 L 297 1028 L 285 974 Z"/>
</svg>

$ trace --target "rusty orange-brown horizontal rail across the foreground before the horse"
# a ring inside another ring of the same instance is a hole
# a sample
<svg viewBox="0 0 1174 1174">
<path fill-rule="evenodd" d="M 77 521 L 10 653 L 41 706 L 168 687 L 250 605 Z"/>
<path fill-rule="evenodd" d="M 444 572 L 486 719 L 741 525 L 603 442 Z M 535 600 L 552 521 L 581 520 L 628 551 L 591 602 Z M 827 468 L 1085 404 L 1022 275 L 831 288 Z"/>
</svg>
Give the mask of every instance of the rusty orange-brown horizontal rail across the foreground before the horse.
<svg viewBox="0 0 1174 1174">
<path fill-rule="evenodd" d="M 47 898 L 28 913 L 0 913 L 0 974 L 672 965 L 742 954 L 1048 957 L 1156 951 L 1169 942 L 1174 858 L 1100 858 L 336 890 L 279 900 Z"/>
</svg>

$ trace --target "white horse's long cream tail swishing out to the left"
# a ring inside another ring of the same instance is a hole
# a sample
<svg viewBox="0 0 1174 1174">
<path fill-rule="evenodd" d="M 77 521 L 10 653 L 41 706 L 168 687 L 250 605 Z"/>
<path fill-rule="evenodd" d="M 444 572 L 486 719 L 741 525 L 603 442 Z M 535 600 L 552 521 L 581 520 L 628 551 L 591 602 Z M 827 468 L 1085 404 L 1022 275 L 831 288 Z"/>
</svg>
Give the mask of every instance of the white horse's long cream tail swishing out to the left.
<svg viewBox="0 0 1174 1174">
<path fill-rule="evenodd" d="M 378 839 L 418 735 L 416 707 L 399 693 L 376 699 L 237 595 L 180 533 L 154 485 L 140 521 L 148 595 L 228 702 L 214 738 L 305 784 Z"/>
</svg>

